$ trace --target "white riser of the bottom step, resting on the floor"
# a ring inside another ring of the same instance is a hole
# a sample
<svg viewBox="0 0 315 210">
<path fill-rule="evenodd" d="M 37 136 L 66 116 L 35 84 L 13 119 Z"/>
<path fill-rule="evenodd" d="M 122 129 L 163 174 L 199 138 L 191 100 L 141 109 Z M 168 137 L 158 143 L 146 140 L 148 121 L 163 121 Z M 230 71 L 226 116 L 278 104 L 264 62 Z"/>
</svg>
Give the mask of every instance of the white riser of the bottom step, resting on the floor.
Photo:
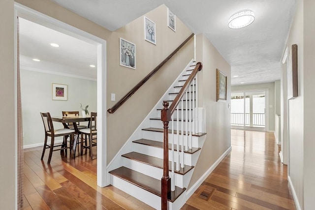
<svg viewBox="0 0 315 210">
<path fill-rule="evenodd" d="M 111 176 L 111 183 L 113 186 L 120 190 L 132 195 L 136 199 L 148 204 L 154 209 L 161 209 L 161 197 L 155 195 L 145 189 L 137 187 L 136 185 L 129 183 L 128 181 L 122 180 L 116 176 Z M 145 199 L 144 199 L 145 198 Z M 176 201 L 169 202 L 169 210 L 179 210 L 183 206 L 183 201 L 185 200 L 185 192 L 182 193 Z M 184 203 L 185 204 L 185 203 Z"/>
</svg>

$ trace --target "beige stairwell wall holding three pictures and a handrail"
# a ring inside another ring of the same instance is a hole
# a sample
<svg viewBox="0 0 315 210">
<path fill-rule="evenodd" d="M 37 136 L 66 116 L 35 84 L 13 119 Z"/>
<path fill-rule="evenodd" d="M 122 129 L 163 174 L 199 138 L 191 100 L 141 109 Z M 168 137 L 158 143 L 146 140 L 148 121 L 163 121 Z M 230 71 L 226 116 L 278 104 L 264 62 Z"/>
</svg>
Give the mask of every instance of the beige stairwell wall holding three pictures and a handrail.
<svg viewBox="0 0 315 210">
<path fill-rule="evenodd" d="M 157 45 L 144 40 L 144 17 L 116 30 L 106 30 L 49 0 L 16 0 L 78 29 L 87 31 L 107 44 L 107 108 L 111 108 L 139 81 L 178 47 L 192 32 L 177 18 L 176 32 L 167 27 L 167 7 L 161 5 L 145 16 L 156 23 Z M 119 37 L 136 45 L 136 69 L 119 65 Z M 107 114 L 107 163 L 149 113 L 194 56 L 193 39 L 114 114 Z M 116 94 L 116 102 L 110 100 Z"/>
</svg>

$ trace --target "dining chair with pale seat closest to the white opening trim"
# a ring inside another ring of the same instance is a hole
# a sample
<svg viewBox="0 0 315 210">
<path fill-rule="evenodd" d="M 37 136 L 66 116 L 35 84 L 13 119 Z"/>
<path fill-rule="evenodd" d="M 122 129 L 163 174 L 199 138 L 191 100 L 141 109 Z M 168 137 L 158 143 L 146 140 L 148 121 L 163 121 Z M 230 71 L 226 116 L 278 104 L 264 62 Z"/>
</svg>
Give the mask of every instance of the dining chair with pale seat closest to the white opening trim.
<svg viewBox="0 0 315 210">
<path fill-rule="evenodd" d="M 97 113 L 91 112 L 90 126 L 79 130 L 81 134 L 81 155 L 83 155 L 83 149 L 90 150 L 91 160 L 93 160 L 93 147 L 97 146 Z M 85 139 L 83 138 L 85 136 Z M 87 138 L 88 137 L 88 138 Z M 89 139 L 89 144 L 87 143 Z"/>
</svg>

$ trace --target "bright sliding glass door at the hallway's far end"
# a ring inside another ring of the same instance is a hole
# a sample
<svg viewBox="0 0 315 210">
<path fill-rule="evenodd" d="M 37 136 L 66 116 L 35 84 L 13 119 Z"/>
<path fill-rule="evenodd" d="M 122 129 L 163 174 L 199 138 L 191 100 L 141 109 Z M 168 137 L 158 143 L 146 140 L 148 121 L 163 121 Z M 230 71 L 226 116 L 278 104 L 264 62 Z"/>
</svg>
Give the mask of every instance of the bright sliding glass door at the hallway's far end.
<svg viewBox="0 0 315 210">
<path fill-rule="evenodd" d="M 266 130 L 265 90 L 231 93 L 231 127 Z"/>
</svg>

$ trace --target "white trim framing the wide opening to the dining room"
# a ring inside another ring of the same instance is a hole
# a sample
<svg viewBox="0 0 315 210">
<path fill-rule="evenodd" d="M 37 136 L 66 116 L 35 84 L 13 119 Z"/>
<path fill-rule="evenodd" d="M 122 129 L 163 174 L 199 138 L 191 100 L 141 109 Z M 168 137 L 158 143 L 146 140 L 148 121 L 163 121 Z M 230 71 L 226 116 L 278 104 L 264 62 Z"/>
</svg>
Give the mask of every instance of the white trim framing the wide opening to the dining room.
<svg viewBox="0 0 315 210">
<path fill-rule="evenodd" d="M 97 46 L 97 112 L 98 112 L 98 136 L 102 141 L 97 144 L 97 185 L 106 185 L 106 40 L 101 39 L 84 30 L 77 29 L 48 15 L 40 13 L 20 3 L 14 2 L 17 16 L 41 24 L 50 29 L 57 30 L 67 35 L 76 37 Z M 15 20 L 16 22 L 16 20 Z M 16 59 L 16 53 L 15 53 Z"/>
</svg>

